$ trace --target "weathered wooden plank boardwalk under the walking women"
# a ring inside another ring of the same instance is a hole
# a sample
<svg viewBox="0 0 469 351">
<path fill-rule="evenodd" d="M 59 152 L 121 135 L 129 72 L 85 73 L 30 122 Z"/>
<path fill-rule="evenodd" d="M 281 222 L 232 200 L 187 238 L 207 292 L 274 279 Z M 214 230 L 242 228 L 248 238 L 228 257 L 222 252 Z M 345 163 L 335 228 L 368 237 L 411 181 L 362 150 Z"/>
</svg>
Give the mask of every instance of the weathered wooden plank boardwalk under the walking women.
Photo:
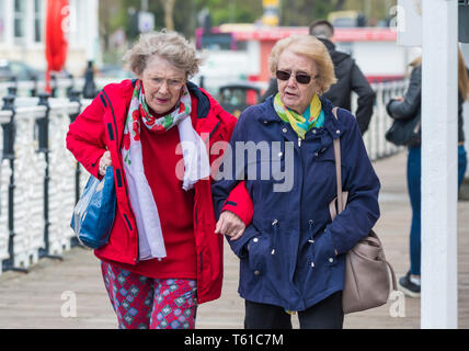
<svg viewBox="0 0 469 351">
<path fill-rule="evenodd" d="M 411 210 L 405 188 L 405 152 L 401 152 L 375 162 L 381 180 L 381 218 L 375 229 L 398 278 L 409 267 Z M 469 202 L 458 203 L 458 224 L 459 328 L 469 328 Z M 237 293 L 238 262 L 228 245 L 225 249 L 222 295 L 218 301 L 199 306 L 197 328 L 242 328 L 243 301 Z M 401 304 L 397 305 L 398 301 Z M 396 316 L 399 313 L 401 316 Z M 296 317 L 294 326 L 298 326 Z M 420 298 L 396 299 L 371 310 L 347 315 L 344 327 L 420 328 Z M 27 274 L 3 272 L 0 275 L 0 328 L 116 328 L 98 259 L 89 250 L 75 248 L 64 254 L 62 261 L 39 260 Z"/>
</svg>

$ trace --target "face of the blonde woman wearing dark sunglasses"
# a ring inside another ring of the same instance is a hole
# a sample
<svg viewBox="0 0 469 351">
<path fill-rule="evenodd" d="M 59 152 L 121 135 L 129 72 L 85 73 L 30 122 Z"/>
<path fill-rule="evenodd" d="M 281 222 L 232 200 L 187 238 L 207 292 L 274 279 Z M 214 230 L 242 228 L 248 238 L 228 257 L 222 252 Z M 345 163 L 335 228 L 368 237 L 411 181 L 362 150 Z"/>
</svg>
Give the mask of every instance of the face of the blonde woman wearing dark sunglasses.
<svg viewBox="0 0 469 351">
<path fill-rule="evenodd" d="M 311 103 L 311 99 L 318 90 L 314 79 L 318 75 L 318 70 L 314 61 L 286 48 L 278 57 L 277 70 L 290 73 L 288 80 L 281 80 L 277 78 L 282 102 L 288 109 L 302 114 Z M 295 77 L 298 73 L 311 77 L 310 81 L 306 84 L 299 83 Z"/>
</svg>

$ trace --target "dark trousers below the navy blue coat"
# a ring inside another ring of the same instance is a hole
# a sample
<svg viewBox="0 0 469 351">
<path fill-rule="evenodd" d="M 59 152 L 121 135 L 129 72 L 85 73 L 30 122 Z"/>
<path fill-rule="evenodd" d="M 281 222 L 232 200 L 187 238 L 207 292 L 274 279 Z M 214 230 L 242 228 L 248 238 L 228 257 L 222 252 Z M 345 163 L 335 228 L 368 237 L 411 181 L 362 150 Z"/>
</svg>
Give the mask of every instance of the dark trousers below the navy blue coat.
<svg viewBox="0 0 469 351">
<path fill-rule="evenodd" d="M 291 329 L 291 316 L 283 307 L 245 301 L 245 329 Z M 301 329 L 342 329 L 342 292 L 298 312 Z"/>
</svg>

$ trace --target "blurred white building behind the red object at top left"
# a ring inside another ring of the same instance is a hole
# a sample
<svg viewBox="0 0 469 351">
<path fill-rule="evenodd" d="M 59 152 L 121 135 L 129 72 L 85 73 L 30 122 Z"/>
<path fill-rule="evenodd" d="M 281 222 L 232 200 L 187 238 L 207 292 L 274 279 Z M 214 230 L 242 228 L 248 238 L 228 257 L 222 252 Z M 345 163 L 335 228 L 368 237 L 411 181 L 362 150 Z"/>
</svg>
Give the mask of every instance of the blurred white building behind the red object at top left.
<svg viewBox="0 0 469 351">
<path fill-rule="evenodd" d="M 69 0 L 64 9 L 68 14 L 62 29 L 68 39 L 66 69 L 82 76 L 87 60 L 98 59 L 98 0 Z M 0 0 L 0 60 L 13 64 L 14 71 L 23 75 L 25 67 L 46 70 L 45 23 L 46 0 Z M 1 67 L 0 63 L 0 67 Z"/>
</svg>

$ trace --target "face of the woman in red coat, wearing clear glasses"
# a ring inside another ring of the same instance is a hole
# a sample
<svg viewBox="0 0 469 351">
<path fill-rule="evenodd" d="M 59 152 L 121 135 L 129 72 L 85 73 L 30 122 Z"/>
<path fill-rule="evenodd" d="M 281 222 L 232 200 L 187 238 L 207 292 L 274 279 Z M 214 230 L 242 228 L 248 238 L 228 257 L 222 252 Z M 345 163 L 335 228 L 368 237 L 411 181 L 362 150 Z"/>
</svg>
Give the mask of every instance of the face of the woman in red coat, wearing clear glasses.
<svg viewBox="0 0 469 351">
<path fill-rule="evenodd" d="M 164 114 L 174 107 L 186 83 L 185 71 L 158 55 L 149 58 L 138 78 L 144 83 L 148 106 L 157 114 Z"/>
</svg>

